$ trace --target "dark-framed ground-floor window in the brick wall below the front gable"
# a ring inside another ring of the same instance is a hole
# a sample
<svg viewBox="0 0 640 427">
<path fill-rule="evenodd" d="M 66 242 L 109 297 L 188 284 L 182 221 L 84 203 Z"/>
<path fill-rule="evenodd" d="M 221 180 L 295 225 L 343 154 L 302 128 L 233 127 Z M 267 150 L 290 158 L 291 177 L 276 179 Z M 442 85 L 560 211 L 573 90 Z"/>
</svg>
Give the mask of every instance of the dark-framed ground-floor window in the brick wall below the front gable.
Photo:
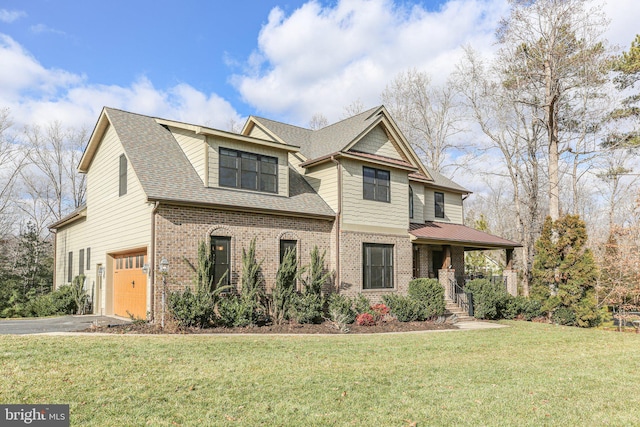
<svg viewBox="0 0 640 427">
<path fill-rule="evenodd" d="M 393 288 L 393 245 L 362 246 L 363 289 Z"/>
</svg>

